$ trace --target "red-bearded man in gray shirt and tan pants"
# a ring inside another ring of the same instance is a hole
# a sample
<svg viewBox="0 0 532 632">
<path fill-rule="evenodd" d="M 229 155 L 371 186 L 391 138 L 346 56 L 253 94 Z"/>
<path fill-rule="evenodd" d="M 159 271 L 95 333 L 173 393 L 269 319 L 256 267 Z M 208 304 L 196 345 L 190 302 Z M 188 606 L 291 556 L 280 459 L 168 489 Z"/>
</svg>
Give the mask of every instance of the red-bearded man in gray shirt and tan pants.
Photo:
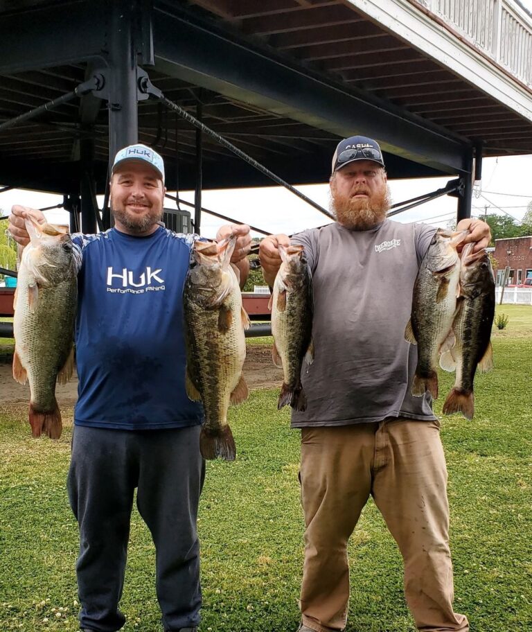
<svg viewBox="0 0 532 632">
<path fill-rule="evenodd" d="M 467 632 L 454 612 L 449 549 L 447 470 L 439 423 L 426 393 L 410 393 L 416 347 L 405 341 L 412 289 L 435 228 L 386 218 L 389 191 L 373 139 L 340 142 L 332 159 L 337 221 L 303 231 L 314 287 L 314 362 L 301 381 L 308 405 L 292 412 L 301 428 L 301 502 L 305 563 L 300 632 L 340 631 L 349 599 L 348 539 L 369 495 L 405 561 L 405 597 L 419 630 Z M 478 251 L 490 229 L 461 220 L 464 243 Z M 264 277 L 273 286 L 278 245 L 260 244 Z"/>
</svg>

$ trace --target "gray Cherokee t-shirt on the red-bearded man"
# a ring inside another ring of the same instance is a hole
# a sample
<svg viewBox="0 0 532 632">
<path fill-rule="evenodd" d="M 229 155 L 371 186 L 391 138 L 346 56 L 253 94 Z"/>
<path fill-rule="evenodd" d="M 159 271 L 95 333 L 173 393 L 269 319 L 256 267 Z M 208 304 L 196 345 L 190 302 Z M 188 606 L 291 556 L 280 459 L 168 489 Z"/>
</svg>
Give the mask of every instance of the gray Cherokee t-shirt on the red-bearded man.
<svg viewBox="0 0 532 632">
<path fill-rule="evenodd" d="M 294 235 L 312 270 L 314 362 L 303 362 L 308 406 L 292 412 L 292 427 L 436 419 L 428 393 L 410 394 L 417 351 L 405 340 L 414 281 L 435 231 L 385 220 L 366 231 L 334 223 Z"/>
</svg>

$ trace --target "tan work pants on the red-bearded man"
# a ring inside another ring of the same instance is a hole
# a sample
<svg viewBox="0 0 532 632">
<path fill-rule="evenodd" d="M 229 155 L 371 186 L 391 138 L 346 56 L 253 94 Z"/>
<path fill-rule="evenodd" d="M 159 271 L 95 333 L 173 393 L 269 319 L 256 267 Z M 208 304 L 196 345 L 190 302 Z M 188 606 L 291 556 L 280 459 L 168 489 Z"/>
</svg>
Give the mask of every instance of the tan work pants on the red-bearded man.
<svg viewBox="0 0 532 632">
<path fill-rule="evenodd" d="M 301 429 L 305 514 L 303 623 L 343 630 L 347 543 L 373 496 L 405 562 L 405 597 L 419 630 L 467 632 L 454 613 L 447 468 L 437 421 L 385 419 Z M 371 563 L 371 560 L 368 560 Z"/>
</svg>

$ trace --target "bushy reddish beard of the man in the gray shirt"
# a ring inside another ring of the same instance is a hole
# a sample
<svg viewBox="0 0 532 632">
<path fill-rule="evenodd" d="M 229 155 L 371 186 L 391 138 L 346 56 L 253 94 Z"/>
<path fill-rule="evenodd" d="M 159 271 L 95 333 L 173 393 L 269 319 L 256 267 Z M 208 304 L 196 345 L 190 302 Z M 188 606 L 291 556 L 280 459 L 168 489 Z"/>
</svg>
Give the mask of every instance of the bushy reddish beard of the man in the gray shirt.
<svg viewBox="0 0 532 632">
<path fill-rule="evenodd" d="M 369 193 L 362 188 L 357 192 Z M 390 205 L 388 186 L 380 193 L 373 193 L 371 198 L 348 198 L 330 191 L 330 210 L 337 222 L 348 229 L 367 230 L 384 222 Z"/>
</svg>

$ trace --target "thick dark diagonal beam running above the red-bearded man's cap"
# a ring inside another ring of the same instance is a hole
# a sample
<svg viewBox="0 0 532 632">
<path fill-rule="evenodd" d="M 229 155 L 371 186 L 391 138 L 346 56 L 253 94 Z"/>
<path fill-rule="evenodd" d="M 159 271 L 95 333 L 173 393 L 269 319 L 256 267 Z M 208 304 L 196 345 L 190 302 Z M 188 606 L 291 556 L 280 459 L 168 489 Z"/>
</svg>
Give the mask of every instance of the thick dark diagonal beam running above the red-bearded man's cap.
<svg viewBox="0 0 532 632">
<path fill-rule="evenodd" d="M 338 8 L 345 7 L 330 10 Z M 353 12 L 348 10 L 348 15 Z M 365 132 L 379 139 L 384 151 L 444 173 L 456 173 L 465 166 L 463 140 L 391 103 L 345 89 L 330 78 L 238 40 L 234 33 L 204 25 L 190 13 L 155 10 L 153 24 L 160 72 L 339 137 Z"/>
</svg>

